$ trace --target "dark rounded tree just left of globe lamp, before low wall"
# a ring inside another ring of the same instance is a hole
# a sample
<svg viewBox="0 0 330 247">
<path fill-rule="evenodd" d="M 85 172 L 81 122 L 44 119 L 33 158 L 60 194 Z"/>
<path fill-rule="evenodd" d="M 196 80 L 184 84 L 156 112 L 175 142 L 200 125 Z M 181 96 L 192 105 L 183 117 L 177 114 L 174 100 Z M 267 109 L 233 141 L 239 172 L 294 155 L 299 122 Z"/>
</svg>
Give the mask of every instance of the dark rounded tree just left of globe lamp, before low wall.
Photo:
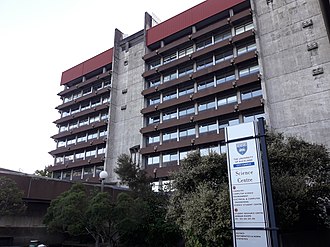
<svg viewBox="0 0 330 247">
<path fill-rule="evenodd" d="M 102 243 L 114 244 L 112 208 L 107 193 L 90 193 L 82 184 L 74 184 L 51 202 L 44 223 L 49 231 L 71 236 L 90 235 L 96 246 L 100 239 Z"/>
</svg>

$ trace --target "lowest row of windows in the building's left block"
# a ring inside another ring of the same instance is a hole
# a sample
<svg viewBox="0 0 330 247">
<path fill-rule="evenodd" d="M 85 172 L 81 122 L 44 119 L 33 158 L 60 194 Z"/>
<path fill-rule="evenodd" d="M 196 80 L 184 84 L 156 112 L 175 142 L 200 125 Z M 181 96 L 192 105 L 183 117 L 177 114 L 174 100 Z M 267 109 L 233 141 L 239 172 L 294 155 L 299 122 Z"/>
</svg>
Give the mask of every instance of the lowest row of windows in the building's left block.
<svg viewBox="0 0 330 247">
<path fill-rule="evenodd" d="M 80 180 L 90 177 L 98 177 L 103 169 L 103 165 L 74 168 L 73 170 L 53 172 L 52 177 L 63 180 Z"/>
</svg>

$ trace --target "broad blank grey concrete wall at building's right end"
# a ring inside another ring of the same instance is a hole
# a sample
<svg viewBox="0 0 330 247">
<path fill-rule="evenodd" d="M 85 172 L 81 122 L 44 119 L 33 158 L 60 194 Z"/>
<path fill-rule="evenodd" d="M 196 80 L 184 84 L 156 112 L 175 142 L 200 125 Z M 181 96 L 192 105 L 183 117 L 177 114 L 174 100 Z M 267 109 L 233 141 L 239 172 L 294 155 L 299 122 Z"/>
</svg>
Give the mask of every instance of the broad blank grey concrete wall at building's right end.
<svg viewBox="0 0 330 247">
<path fill-rule="evenodd" d="M 330 147 L 330 44 L 318 0 L 253 0 L 266 111 L 275 130 Z M 312 20 L 307 27 L 304 22 Z M 318 48 L 307 46 L 317 42 Z M 322 68 L 323 73 L 313 75 Z"/>
</svg>

